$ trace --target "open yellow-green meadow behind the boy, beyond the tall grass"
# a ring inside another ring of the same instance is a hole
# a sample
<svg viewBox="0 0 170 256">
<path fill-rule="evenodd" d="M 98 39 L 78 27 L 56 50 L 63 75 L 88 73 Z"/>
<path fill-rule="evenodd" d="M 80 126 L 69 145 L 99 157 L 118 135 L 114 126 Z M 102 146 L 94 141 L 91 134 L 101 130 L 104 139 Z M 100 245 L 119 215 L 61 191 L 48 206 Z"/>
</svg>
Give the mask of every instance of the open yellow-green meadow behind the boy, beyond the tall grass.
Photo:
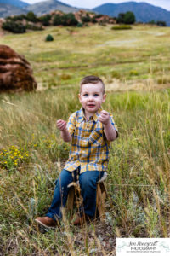
<svg viewBox="0 0 170 256">
<path fill-rule="evenodd" d="M 0 43 L 26 55 L 39 88 L 77 84 L 88 73 L 98 73 L 111 83 L 113 78 L 108 77 L 113 72 L 118 73 L 119 82 L 132 84 L 151 77 L 158 87 L 169 83 L 168 27 L 133 26 L 131 31 L 113 31 L 111 27 L 52 26 L 42 32 L 8 34 Z M 45 42 L 49 33 L 53 42 Z"/>
</svg>

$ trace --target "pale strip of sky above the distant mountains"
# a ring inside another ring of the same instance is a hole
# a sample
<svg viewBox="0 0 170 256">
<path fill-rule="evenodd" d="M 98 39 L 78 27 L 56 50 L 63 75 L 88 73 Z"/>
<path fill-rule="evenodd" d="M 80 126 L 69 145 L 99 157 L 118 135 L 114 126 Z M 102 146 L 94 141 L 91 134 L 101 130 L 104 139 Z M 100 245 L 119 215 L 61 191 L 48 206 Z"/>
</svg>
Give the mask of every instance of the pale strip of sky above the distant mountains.
<svg viewBox="0 0 170 256">
<path fill-rule="evenodd" d="M 38 3 L 42 1 L 47 0 L 22 0 L 26 3 Z M 146 2 L 150 3 L 156 6 L 159 6 L 163 9 L 170 10 L 170 0 L 59 0 L 62 3 L 70 4 L 71 6 L 77 7 L 77 8 L 87 8 L 87 9 L 93 9 L 94 7 L 97 7 L 103 3 L 125 3 L 125 2 Z"/>
</svg>

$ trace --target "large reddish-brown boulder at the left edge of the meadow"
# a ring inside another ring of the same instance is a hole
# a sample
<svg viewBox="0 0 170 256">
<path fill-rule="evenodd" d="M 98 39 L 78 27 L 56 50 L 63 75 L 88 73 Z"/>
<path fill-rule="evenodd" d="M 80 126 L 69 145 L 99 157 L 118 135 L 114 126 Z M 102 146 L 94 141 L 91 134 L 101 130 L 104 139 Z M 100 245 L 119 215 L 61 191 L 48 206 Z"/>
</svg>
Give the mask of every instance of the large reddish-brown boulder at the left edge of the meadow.
<svg viewBox="0 0 170 256">
<path fill-rule="evenodd" d="M 0 45 L 0 92 L 36 90 L 31 65 L 24 55 L 7 45 Z"/>
</svg>

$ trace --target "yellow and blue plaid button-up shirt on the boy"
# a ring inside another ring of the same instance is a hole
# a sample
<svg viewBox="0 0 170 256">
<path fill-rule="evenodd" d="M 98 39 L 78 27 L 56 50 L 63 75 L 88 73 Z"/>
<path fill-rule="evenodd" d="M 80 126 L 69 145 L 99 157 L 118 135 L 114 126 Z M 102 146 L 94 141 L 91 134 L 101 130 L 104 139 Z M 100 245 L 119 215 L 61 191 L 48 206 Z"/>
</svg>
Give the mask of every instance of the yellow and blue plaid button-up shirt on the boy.
<svg viewBox="0 0 170 256">
<path fill-rule="evenodd" d="M 110 143 L 105 137 L 103 124 L 98 121 L 100 111 L 101 109 L 89 120 L 85 118 L 82 108 L 71 114 L 67 129 L 72 136 L 72 142 L 65 170 L 72 172 L 79 166 L 81 173 L 107 169 Z M 111 114 L 110 119 L 117 131 Z"/>
</svg>

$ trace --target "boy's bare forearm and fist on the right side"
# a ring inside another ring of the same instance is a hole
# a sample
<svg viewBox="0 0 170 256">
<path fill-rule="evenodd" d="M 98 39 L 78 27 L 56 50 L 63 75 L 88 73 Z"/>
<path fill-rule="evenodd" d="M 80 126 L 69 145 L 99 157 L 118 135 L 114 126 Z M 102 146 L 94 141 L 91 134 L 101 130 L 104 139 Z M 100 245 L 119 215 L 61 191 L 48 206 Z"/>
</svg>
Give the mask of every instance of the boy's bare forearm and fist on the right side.
<svg viewBox="0 0 170 256">
<path fill-rule="evenodd" d="M 111 124 L 110 114 L 102 110 L 99 115 L 99 121 L 104 125 L 105 137 L 109 142 L 112 142 L 117 137 L 117 132 Z"/>
</svg>

